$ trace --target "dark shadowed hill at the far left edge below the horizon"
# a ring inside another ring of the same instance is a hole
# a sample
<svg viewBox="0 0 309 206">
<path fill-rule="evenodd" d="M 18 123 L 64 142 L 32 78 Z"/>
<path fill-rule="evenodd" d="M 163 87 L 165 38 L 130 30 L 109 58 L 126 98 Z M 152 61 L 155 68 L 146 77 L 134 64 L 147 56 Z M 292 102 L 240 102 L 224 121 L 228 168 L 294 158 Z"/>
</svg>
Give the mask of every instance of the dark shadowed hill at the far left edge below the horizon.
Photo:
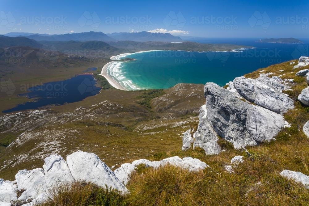
<svg viewBox="0 0 309 206">
<path fill-rule="evenodd" d="M 0 35 L 0 47 L 28 46 L 40 48 L 41 44 L 26 37 L 9 37 Z"/>
</svg>

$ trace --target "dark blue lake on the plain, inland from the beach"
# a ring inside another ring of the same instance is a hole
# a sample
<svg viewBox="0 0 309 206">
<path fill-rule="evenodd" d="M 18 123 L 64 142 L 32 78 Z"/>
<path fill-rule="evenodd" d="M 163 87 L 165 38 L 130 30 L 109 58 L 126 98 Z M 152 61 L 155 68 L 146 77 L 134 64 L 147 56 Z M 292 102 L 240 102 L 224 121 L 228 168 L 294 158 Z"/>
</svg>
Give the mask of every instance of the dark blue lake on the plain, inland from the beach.
<svg viewBox="0 0 309 206">
<path fill-rule="evenodd" d="M 96 69 L 96 68 L 95 68 Z M 38 109 L 81 101 L 89 96 L 99 94 L 101 87 L 95 86 L 92 74 L 81 74 L 64 81 L 47 82 L 28 89 L 28 92 L 19 96 L 28 97 L 32 101 L 18 104 L 3 113 Z"/>
</svg>

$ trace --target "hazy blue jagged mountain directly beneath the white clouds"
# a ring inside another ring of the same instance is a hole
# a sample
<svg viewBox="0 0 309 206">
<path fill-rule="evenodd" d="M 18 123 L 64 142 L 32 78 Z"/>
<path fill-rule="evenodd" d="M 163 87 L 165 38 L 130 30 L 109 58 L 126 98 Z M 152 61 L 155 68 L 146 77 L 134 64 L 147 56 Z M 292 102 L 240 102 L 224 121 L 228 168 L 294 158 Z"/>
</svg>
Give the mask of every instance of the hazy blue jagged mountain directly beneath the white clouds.
<svg viewBox="0 0 309 206">
<path fill-rule="evenodd" d="M 182 41 L 179 36 L 173 36 L 169 33 L 151 33 L 151 32 L 120 32 L 107 34 L 118 41 L 161 41 L 161 42 L 179 42 Z"/>
</svg>

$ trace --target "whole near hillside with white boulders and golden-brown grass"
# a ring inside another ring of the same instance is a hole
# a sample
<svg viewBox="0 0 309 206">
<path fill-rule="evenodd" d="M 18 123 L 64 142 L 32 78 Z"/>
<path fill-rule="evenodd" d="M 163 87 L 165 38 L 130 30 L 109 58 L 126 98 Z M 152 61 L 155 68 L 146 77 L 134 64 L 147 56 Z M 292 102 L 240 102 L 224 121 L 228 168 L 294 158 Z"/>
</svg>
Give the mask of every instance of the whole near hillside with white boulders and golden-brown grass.
<svg viewBox="0 0 309 206">
<path fill-rule="evenodd" d="M 306 205 L 308 85 L 309 58 L 301 57 L 223 88 L 206 83 L 206 103 L 202 86 L 180 84 L 157 97 L 121 91 L 72 111 L 5 115 L 1 132 L 16 138 L 1 153 L 0 187 L 44 201 L 44 188 L 65 175 L 116 188 L 127 205 Z M 23 185 L 28 179 L 36 181 Z"/>
</svg>

